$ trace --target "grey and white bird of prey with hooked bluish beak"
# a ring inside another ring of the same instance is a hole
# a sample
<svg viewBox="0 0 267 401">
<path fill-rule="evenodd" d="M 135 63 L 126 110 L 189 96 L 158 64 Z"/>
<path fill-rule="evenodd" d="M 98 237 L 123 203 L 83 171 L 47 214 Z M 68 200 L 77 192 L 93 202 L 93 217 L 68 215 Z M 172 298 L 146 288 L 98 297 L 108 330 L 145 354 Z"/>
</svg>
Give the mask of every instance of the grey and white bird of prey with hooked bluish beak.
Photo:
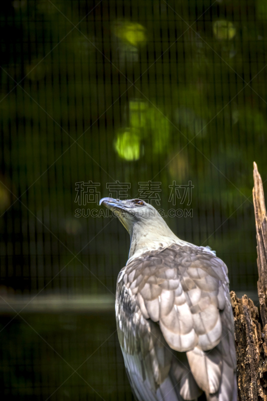
<svg viewBox="0 0 267 401">
<path fill-rule="evenodd" d="M 142 199 L 100 205 L 130 235 L 116 289 L 116 323 L 138 401 L 237 401 L 234 322 L 226 265 L 179 239 Z"/>
</svg>

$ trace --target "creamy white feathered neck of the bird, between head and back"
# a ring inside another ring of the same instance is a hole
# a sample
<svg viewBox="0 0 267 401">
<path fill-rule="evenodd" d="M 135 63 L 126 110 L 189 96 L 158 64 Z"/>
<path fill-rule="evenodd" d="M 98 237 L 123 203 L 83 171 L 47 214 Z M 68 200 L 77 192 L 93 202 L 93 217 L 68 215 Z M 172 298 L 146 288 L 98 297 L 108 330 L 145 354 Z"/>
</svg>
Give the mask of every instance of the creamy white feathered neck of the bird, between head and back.
<svg viewBox="0 0 267 401">
<path fill-rule="evenodd" d="M 144 252 L 182 242 L 173 234 L 163 219 L 160 222 L 151 223 L 150 221 L 149 224 L 136 223 L 130 237 L 131 246 L 127 263 Z"/>
</svg>

